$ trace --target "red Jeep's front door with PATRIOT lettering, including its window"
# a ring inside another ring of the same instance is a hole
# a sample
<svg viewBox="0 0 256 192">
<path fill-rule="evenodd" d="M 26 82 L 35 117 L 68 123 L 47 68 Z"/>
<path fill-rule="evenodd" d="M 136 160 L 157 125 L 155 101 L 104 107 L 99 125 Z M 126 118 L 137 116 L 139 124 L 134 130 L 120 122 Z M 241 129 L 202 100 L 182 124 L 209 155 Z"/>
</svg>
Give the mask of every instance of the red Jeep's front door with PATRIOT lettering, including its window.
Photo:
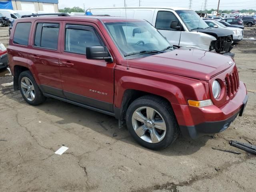
<svg viewBox="0 0 256 192">
<path fill-rule="evenodd" d="M 64 95 L 113 112 L 114 63 L 86 58 L 86 46 L 105 46 L 96 28 L 84 22 L 65 22 L 63 29 L 59 62 Z"/>
</svg>

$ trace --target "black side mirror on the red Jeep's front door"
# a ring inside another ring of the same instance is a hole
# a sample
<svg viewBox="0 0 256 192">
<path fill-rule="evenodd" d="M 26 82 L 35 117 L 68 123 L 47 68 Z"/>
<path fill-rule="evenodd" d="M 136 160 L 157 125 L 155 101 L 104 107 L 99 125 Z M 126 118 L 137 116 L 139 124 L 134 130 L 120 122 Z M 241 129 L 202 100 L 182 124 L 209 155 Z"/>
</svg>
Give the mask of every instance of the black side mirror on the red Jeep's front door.
<svg viewBox="0 0 256 192">
<path fill-rule="evenodd" d="M 105 60 L 106 62 L 113 62 L 109 52 L 104 46 L 87 46 L 86 47 L 86 58 Z"/>
</svg>

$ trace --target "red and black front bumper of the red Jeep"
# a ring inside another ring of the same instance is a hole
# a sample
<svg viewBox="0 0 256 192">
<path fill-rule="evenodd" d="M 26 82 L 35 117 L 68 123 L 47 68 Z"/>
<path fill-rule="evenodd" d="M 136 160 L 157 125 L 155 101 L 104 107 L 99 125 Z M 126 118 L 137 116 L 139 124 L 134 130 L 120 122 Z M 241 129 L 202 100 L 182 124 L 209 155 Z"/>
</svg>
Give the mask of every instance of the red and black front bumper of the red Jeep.
<svg viewBox="0 0 256 192">
<path fill-rule="evenodd" d="M 238 92 L 224 106 L 211 105 L 196 108 L 172 104 L 172 107 L 182 135 L 197 138 L 205 134 L 222 132 L 228 128 L 238 114 L 242 116 L 247 100 L 246 87 L 240 81 Z M 181 110 L 181 113 L 177 112 L 178 110 Z"/>
</svg>

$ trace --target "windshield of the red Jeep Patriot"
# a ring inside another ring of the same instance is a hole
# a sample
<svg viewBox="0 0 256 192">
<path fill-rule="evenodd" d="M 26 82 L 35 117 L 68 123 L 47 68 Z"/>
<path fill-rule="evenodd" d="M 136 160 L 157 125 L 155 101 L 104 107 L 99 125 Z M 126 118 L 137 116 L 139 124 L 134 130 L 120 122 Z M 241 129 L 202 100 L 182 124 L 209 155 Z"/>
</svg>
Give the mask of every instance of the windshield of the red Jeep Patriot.
<svg viewBox="0 0 256 192">
<path fill-rule="evenodd" d="M 162 51 L 170 46 L 148 22 L 106 22 L 105 25 L 123 56 L 138 53 L 133 56 L 136 58 L 140 52 Z"/>
</svg>

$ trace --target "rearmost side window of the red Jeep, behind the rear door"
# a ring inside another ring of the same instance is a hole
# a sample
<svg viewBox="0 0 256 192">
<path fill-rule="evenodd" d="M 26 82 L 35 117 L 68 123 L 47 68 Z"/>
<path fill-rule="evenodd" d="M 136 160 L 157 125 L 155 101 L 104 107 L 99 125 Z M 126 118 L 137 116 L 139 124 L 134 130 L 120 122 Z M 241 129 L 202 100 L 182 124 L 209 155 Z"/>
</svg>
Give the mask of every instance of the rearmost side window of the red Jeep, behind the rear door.
<svg viewBox="0 0 256 192">
<path fill-rule="evenodd" d="M 30 28 L 31 28 L 30 22 L 17 23 L 14 31 L 13 43 L 19 44 L 19 45 L 28 45 Z"/>
</svg>

